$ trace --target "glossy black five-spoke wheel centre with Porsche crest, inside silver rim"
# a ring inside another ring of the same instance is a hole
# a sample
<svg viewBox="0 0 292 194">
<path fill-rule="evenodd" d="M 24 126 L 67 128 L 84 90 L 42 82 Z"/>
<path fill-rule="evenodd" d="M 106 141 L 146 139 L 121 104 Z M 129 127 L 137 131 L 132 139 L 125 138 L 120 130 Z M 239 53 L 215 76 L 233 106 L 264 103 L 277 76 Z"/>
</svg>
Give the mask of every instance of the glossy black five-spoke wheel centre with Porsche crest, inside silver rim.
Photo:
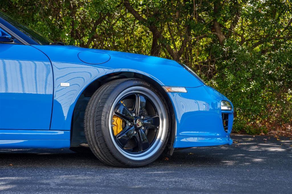
<svg viewBox="0 0 292 194">
<path fill-rule="evenodd" d="M 113 115 L 120 117 L 123 120 L 122 125 L 126 125 L 123 130 L 115 132 L 116 135 L 113 134 L 117 143 L 116 146 L 129 153 L 140 154 L 145 152 L 150 149 L 150 145 L 152 145 L 154 140 L 157 141 L 157 133 L 161 123 L 160 117 L 151 99 L 146 96 L 141 93 L 130 93 L 126 97 L 121 98 L 122 101 L 118 101 L 114 108 Z M 147 100 L 149 100 L 149 104 Z M 150 110 L 148 110 L 148 106 Z M 154 111 L 156 113 L 153 113 Z M 140 123 L 138 119 L 142 122 Z M 132 138 L 136 140 L 137 144 L 135 144 Z"/>
</svg>

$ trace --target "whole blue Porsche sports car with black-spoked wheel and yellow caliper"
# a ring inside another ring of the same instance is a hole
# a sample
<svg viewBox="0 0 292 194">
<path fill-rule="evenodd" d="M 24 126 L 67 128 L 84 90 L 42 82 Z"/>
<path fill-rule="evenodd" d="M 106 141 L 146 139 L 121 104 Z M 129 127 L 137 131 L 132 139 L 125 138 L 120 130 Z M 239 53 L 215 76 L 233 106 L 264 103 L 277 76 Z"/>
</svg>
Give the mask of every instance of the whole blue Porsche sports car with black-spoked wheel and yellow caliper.
<svg viewBox="0 0 292 194">
<path fill-rule="evenodd" d="M 176 61 L 52 42 L 0 12 L 0 149 L 91 151 L 140 167 L 232 144 L 233 105 Z"/>
</svg>

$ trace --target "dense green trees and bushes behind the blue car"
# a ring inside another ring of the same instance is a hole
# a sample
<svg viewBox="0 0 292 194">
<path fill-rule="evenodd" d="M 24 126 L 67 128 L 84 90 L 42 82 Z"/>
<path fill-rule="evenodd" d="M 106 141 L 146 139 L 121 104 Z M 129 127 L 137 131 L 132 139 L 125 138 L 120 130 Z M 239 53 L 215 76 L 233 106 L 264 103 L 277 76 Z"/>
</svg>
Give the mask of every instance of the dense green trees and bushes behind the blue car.
<svg viewBox="0 0 292 194">
<path fill-rule="evenodd" d="M 291 132 L 288 0 L 1 0 L 54 41 L 183 62 L 232 100 L 234 130 Z"/>
</svg>

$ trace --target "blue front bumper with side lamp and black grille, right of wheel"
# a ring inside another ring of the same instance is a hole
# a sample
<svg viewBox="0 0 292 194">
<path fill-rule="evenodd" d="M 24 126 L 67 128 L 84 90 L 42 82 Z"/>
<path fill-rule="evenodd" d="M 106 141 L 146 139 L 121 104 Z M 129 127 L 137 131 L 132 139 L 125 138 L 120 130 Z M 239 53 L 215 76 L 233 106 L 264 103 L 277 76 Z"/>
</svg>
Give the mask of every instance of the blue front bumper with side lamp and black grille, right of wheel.
<svg viewBox="0 0 292 194">
<path fill-rule="evenodd" d="M 174 148 L 232 144 L 233 108 L 221 111 L 221 101 L 230 102 L 224 95 L 206 85 L 187 88 L 187 93 L 168 95 L 175 112 Z M 222 113 L 229 115 L 227 132 L 223 127 Z"/>
</svg>

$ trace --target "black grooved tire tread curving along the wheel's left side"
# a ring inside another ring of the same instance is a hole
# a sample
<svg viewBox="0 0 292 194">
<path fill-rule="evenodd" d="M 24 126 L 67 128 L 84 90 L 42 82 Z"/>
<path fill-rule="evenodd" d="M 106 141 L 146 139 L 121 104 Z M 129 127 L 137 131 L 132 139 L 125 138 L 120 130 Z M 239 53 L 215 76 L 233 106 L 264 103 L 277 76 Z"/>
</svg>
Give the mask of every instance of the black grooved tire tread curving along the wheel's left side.
<svg viewBox="0 0 292 194">
<path fill-rule="evenodd" d="M 115 167 L 139 167 L 139 165 L 135 166 L 133 163 L 125 163 L 117 158 L 108 147 L 105 131 L 103 131 L 105 130 L 103 126 L 108 122 L 104 120 L 107 114 L 105 111 L 107 100 L 119 84 L 128 80 L 131 79 L 114 80 L 97 89 L 86 106 L 84 116 L 84 132 L 91 151 L 100 161 Z M 170 130 L 168 130 L 167 138 L 169 136 L 169 131 Z"/>
</svg>

